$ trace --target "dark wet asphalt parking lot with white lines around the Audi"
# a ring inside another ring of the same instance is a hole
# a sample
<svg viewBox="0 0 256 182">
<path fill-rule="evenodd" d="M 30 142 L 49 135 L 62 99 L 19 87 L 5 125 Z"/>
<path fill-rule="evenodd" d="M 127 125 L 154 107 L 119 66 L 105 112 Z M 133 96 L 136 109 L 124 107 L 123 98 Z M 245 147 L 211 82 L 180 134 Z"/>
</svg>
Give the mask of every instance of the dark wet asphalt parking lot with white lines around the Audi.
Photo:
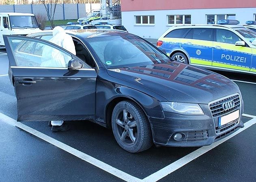
<svg viewBox="0 0 256 182">
<path fill-rule="evenodd" d="M 131 154 L 110 130 L 89 121 L 73 121 L 60 133 L 47 122 L 17 123 L 8 58 L 0 49 L 0 181 L 256 181 L 255 76 L 219 73 L 241 89 L 243 129 L 210 146 Z"/>
</svg>

